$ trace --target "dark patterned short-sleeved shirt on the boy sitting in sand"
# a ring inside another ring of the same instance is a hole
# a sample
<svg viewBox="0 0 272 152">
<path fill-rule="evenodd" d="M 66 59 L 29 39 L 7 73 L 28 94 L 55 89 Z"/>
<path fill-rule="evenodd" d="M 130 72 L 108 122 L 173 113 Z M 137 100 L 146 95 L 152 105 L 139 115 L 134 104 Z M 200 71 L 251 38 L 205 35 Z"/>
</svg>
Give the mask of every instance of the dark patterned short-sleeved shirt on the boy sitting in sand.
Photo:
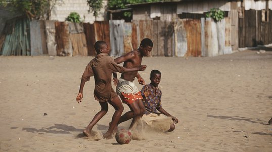
<svg viewBox="0 0 272 152">
<path fill-rule="evenodd" d="M 150 113 L 160 114 L 156 109 L 161 108 L 161 90 L 156 87 L 152 88 L 151 83 L 145 85 L 141 90 L 141 95 L 143 96 L 143 104 L 145 106 L 145 114 Z"/>
</svg>

